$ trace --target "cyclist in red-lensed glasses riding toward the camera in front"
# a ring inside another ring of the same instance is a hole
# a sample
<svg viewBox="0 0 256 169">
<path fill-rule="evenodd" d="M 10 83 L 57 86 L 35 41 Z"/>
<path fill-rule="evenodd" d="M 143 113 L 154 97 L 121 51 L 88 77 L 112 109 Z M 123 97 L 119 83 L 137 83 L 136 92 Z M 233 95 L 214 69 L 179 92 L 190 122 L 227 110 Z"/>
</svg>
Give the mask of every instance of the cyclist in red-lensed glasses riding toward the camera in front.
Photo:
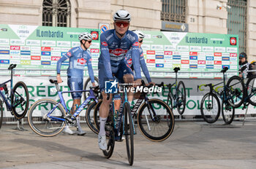
<svg viewBox="0 0 256 169">
<path fill-rule="evenodd" d="M 138 50 L 138 36 L 132 31 L 129 31 L 129 22 L 131 15 L 124 9 L 120 9 L 113 15 L 114 29 L 105 31 L 100 36 L 100 51 L 99 56 L 99 88 L 102 91 L 102 104 L 99 107 L 99 149 L 106 150 L 105 123 L 108 117 L 108 110 L 112 95 L 107 99 L 105 93 L 105 81 L 118 79 L 118 82 L 140 84 L 140 64 Z M 132 62 L 135 69 L 133 76 L 132 69 L 129 68 L 125 61 L 125 55 L 128 50 L 132 50 Z M 137 56 L 137 57 L 136 57 Z M 134 81 L 135 80 L 135 81 Z M 128 98 L 132 98 L 133 93 L 128 93 Z"/>
</svg>

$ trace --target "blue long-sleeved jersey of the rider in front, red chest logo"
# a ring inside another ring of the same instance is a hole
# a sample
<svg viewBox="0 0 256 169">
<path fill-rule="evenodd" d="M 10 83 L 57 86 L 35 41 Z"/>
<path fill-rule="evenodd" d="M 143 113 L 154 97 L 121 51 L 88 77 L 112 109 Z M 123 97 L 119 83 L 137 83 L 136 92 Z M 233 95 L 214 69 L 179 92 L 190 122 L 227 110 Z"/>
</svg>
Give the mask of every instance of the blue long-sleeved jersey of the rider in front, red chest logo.
<svg viewBox="0 0 256 169">
<path fill-rule="evenodd" d="M 127 51 L 131 50 L 133 67 L 135 69 L 135 79 L 141 79 L 138 50 L 138 36 L 132 32 L 127 31 L 122 39 L 116 36 L 115 29 L 105 31 L 100 35 L 100 56 L 99 65 L 104 67 L 107 79 L 113 79 L 112 73 L 115 73 L 119 63 L 124 61 Z"/>
</svg>

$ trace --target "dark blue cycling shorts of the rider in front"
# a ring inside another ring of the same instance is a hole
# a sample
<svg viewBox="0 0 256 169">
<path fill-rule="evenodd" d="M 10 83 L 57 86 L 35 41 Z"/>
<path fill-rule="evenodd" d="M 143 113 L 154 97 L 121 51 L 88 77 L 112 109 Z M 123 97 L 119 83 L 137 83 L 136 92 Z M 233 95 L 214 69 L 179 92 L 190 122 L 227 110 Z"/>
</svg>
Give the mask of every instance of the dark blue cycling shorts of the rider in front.
<svg viewBox="0 0 256 169">
<path fill-rule="evenodd" d="M 105 89 L 105 81 L 108 81 L 109 79 L 107 78 L 105 74 L 105 65 L 99 63 L 98 68 L 99 68 L 99 89 L 102 91 Z M 128 64 L 125 61 L 122 61 L 119 63 L 117 67 L 111 67 L 113 75 L 118 79 L 118 82 L 124 83 L 123 76 L 125 74 L 132 74 L 133 71 L 132 69 L 128 66 Z"/>
</svg>

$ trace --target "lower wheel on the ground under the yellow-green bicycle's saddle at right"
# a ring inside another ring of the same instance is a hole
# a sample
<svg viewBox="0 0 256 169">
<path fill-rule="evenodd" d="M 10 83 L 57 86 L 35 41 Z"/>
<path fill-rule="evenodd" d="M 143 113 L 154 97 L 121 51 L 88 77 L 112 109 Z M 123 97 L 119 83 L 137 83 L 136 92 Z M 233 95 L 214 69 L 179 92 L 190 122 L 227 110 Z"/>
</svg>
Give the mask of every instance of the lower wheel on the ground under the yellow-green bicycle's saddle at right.
<svg viewBox="0 0 256 169">
<path fill-rule="evenodd" d="M 222 117 L 226 125 L 231 124 L 235 117 L 235 108 L 229 102 L 222 101 Z"/>
</svg>

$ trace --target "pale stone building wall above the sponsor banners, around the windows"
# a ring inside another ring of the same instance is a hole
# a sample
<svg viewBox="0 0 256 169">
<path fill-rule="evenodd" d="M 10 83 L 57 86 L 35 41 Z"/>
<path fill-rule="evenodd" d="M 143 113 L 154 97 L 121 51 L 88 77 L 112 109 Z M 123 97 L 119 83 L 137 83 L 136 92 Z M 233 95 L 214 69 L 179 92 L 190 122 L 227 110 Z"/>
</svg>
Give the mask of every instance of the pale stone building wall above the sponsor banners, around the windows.
<svg viewBox="0 0 256 169">
<path fill-rule="evenodd" d="M 58 0 L 48 0 L 58 1 Z M 64 0 L 59 0 L 64 1 Z M 227 34 L 229 0 L 187 0 L 189 32 Z M 0 24 L 42 25 L 43 0 L 0 0 Z M 127 9 L 132 14 L 131 29 L 160 31 L 161 0 L 69 0 L 70 27 L 99 28 L 109 23 L 113 28 L 113 12 Z M 222 9 L 218 9 L 218 5 Z M 247 0 L 246 53 L 256 60 L 256 1 Z M 241 52 L 241 51 L 240 51 Z"/>
</svg>

